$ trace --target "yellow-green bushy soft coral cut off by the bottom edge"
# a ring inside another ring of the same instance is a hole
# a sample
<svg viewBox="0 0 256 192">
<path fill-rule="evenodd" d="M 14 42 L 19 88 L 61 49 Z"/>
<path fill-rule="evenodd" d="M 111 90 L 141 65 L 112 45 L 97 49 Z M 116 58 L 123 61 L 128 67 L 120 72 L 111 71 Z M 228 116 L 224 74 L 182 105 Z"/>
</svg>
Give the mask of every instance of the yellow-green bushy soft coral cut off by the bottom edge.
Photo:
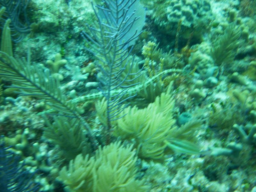
<svg viewBox="0 0 256 192">
<path fill-rule="evenodd" d="M 137 157 L 133 146 L 121 142 L 99 148 L 95 157 L 82 155 L 71 160 L 69 168 L 60 171 L 60 180 L 74 192 L 134 192 L 148 191 L 143 180 L 136 180 Z"/>
</svg>

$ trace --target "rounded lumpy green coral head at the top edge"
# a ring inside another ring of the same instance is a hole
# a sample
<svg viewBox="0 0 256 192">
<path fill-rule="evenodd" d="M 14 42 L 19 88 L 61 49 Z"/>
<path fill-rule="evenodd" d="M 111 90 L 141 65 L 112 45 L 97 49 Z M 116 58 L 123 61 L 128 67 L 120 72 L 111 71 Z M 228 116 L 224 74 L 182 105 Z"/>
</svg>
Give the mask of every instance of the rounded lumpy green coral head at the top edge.
<svg viewBox="0 0 256 192">
<path fill-rule="evenodd" d="M 209 25 L 212 18 L 209 0 L 153 0 L 154 4 L 147 4 L 148 14 L 162 32 L 175 35 L 178 23 L 181 21 L 181 33 L 189 28 L 200 28 Z M 143 2 L 143 0 L 142 0 Z M 186 37 L 185 37 L 186 38 Z"/>
</svg>

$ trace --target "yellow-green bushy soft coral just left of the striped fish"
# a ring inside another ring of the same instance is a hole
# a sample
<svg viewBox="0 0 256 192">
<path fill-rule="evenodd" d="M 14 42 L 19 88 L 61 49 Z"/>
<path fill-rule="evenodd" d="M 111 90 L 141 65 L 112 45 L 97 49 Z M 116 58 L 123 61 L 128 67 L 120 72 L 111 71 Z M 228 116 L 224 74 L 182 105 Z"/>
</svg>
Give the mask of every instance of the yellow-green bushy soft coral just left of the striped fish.
<svg viewBox="0 0 256 192">
<path fill-rule="evenodd" d="M 164 140 L 170 138 L 171 128 L 175 123 L 171 87 L 169 85 L 167 92 L 161 93 L 147 108 L 138 109 L 135 106 L 124 109 L 123 114 L 126 115 L 117 120 L 114 135 L 134 139 L 141 158 L 161 159 L 164 156 Z"/>
</svg>

